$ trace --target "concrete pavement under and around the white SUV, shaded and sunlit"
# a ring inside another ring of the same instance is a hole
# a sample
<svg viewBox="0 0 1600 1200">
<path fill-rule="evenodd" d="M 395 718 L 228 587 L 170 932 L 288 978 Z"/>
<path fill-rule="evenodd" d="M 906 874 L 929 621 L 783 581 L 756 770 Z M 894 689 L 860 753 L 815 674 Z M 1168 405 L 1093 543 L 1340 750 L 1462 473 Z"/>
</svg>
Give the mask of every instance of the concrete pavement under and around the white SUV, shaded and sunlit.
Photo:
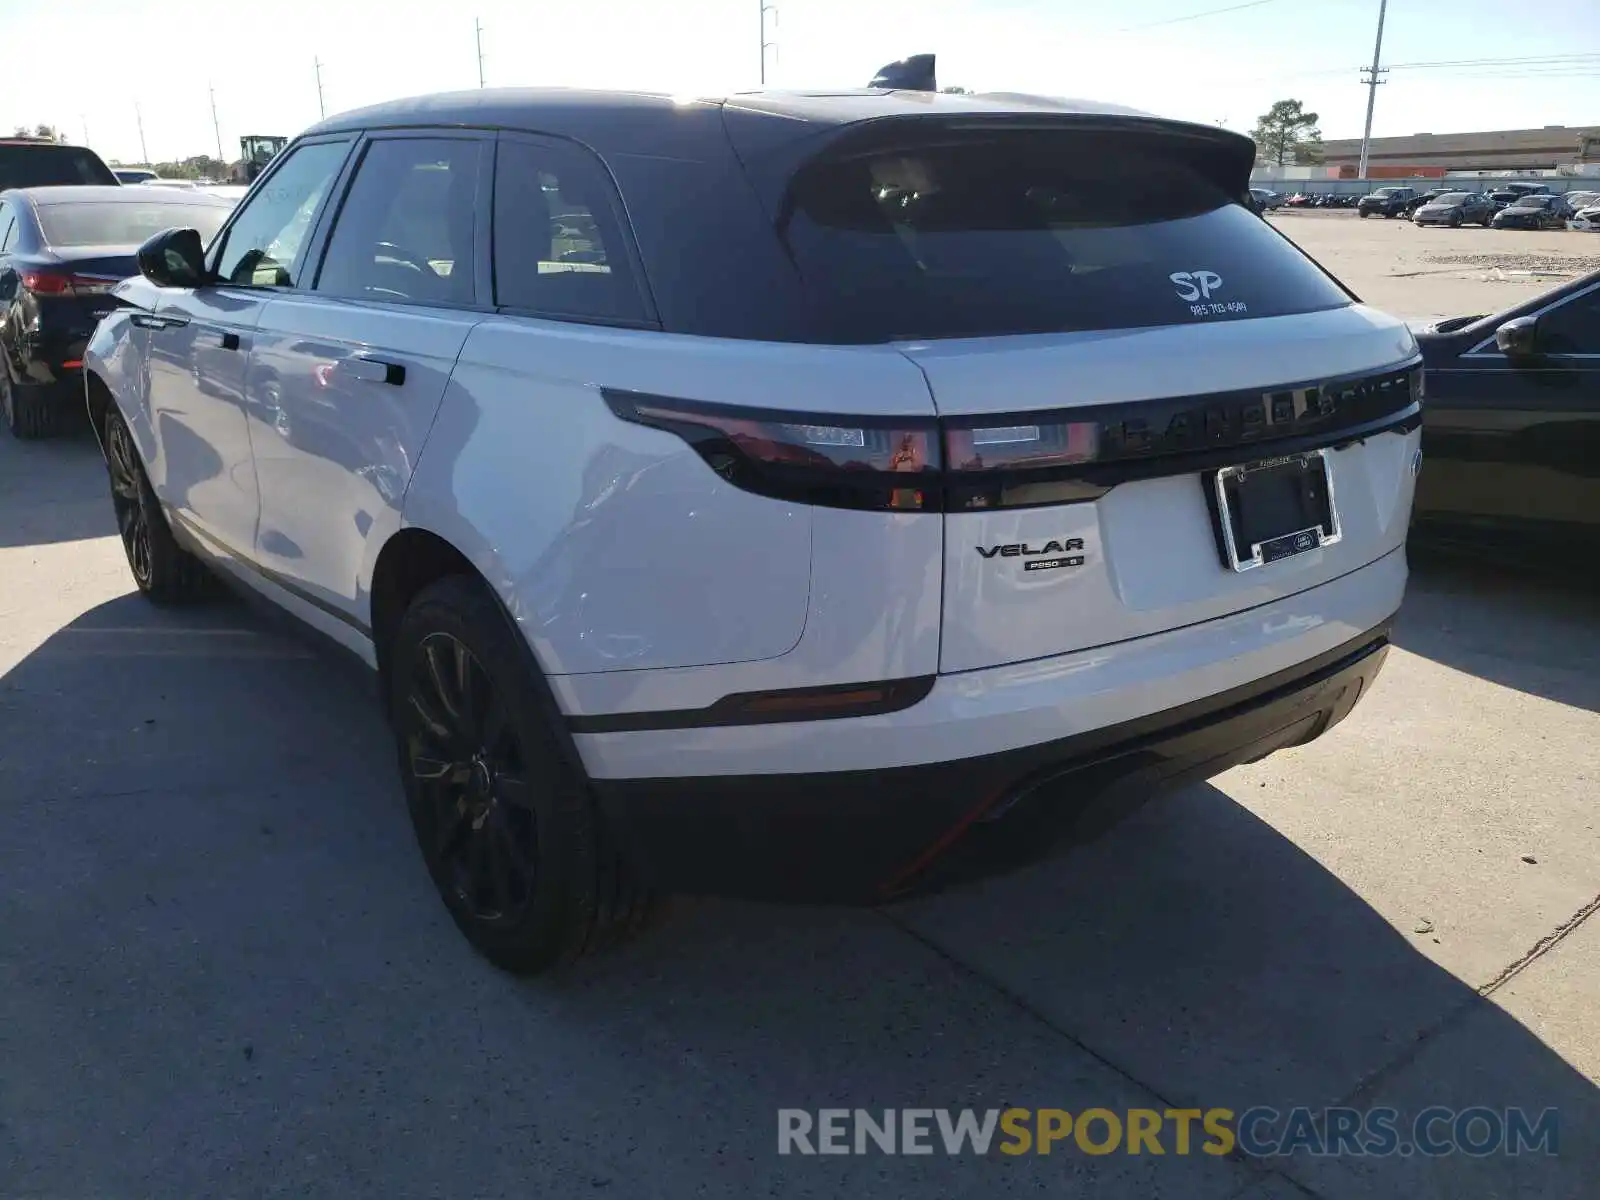
<svg viewBox="0 0 1600 1200">
<path fill-rule="evenodd" d="M 0 1197 L 1594 1195 L 1592 598 L 1421 571 L 1310 747 L 1019 875 L 680 902 L 523 982 L 360 680 L 130 592 L 93 442 L 0 438 Z M 1341 1102 L 1557 1107 L 1560 1155 L 776 1154 L 779 1107 Z"/>
</svg>

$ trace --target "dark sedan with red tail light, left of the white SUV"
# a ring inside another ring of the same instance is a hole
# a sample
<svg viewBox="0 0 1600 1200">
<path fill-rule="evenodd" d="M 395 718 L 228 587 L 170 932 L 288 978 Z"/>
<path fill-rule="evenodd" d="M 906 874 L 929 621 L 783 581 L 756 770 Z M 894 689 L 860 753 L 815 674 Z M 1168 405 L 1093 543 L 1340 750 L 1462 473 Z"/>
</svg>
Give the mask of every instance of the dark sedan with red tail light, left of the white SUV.
<svg viewBox="0 0 1600 1200">
<path fill-rule="evenodd" d="M 0 192 L 0 416 L 45 437 L 83 416 L 83 346 L 138 274 L 134 251 L 163 229 L 214 234 L 232 205 L 139 186 Z"/>
</svg>

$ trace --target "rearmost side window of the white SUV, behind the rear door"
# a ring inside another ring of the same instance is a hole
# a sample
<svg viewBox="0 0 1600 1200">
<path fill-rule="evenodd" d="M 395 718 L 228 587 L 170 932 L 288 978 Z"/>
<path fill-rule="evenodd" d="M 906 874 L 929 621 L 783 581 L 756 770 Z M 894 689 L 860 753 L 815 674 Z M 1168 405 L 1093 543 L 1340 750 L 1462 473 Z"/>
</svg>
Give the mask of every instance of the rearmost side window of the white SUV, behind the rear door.
<svg viewBox="0 0 1600 1200">
<path fill-rule="evenodd" d="M 494 302 L 547 317 L 643 322 L 614 211 L 611 182 L 582 152 L 502 141 L 494 166 Z"/>
</svg>

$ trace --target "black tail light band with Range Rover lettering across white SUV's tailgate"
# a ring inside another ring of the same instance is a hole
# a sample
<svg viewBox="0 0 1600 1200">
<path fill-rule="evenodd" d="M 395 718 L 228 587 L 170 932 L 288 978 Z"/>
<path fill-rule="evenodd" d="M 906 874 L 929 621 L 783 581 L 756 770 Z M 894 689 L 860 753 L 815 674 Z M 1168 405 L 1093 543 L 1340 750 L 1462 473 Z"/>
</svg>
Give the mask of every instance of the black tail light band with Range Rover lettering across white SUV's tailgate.
<svg viewBox="0 0 1600 1200">
<path fill-rule="evenodd" d="M 1422 371 L 1042 413 L 864 418 L 602 389 L 622 421 L 688 442 L 728 483 L 835 509 L 1070 504 L 1133 478 L 1235 466 L 1410 429 Z"/>
</svg>

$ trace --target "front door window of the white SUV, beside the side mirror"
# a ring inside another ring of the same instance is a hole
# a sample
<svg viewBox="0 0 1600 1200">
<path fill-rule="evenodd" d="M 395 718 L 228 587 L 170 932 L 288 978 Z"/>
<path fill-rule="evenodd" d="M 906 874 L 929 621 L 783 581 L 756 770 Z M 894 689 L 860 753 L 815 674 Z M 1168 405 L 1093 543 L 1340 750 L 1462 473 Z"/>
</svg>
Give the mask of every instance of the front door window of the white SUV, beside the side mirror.
<svg viewBox="0 0 1600 1200">
<path fill-rule="evenodd" d="M 346 142 L 294 149 L 251 195 L 224 235 L 216 274 L 224 283 L 293 288 L 310 222 L 344 165 Z"/>
</svg>

